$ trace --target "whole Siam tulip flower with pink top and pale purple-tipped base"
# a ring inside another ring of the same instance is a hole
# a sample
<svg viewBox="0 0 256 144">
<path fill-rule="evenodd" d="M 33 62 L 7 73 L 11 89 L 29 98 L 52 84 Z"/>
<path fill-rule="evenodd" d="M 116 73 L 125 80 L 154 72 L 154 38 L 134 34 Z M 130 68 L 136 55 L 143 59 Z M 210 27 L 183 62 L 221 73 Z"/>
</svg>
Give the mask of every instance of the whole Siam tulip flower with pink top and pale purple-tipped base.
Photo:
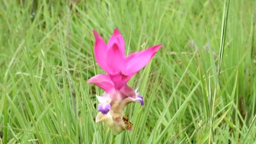
<svg viewBox="0 0 256 144">
<path fill-rule="evenodd" d="M 138 101 L 144 105 L 143 97 L 137 89 L 126 83 L 141 68 L 145 67 L 162 45 L 152 46 L 146 50 L 131 53 L 125 56 L 125 43 L 118 29 L 114 30 L 106 44 L 97 31 L 95 36 L 94 54 L 98 65 L 107 74 L 98 74 L 91 77 L 87 83 L 99 86 L 107 94 L 97 96 L 100 104 L 96 122 L 103 121 L 112 129 L 113 134 L 119 134 L 125 129 L 131 130 L 128 122 L 122 120 L 122 111 L 131 102 Z"/>
</svg>

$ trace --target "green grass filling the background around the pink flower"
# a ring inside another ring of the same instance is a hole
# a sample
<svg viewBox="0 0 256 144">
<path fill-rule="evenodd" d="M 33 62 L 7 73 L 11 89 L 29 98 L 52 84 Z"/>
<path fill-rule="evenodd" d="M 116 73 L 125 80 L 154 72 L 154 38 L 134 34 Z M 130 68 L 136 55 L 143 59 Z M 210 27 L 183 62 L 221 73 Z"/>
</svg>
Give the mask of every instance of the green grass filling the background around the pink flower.
<svg viewBox="0 0 256 144">
<path fill-rule="evenodd" d="M 255 1 L 71 3 L 0 3 L 0 144 L 255 143 Z M 92 30 L 107 42 L 114 28 L 127 54 L 163 44 L 128 82 L 145 105 L 125 109 L 134 131 L 116 137 L 86 83 L 103 73 Z"/>
</svg>

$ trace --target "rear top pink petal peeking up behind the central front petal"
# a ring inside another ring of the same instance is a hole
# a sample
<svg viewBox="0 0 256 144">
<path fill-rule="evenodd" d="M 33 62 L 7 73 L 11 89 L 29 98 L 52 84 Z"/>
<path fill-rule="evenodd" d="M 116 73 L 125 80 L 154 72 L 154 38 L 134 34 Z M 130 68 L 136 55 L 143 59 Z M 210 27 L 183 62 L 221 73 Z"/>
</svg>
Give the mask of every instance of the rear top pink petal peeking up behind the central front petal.
<svg viewBox="0 0 256 144">
<path fill-rule="evenodd" d="M 121 50 L 122 55 L 125 56 L 125 43 L 124 38 L 117 28 L 115 28 L 113 35 L 110 37 L 107 43 L 107 49 L 112 48 L 113 44 L 116 43 Z"/>
</svg>

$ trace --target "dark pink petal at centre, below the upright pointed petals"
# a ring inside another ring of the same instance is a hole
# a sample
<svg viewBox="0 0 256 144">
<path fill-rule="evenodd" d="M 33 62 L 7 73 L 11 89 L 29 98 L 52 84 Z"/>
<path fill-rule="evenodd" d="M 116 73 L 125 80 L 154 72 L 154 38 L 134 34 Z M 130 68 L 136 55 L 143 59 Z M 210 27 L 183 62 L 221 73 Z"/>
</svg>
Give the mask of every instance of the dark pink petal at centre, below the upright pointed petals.
<svg viewBox="0 0 256 144">
<path fill-rule="evenodd" d="M 132 76 L 134 76 L 134 74 L 130 74 L 130 75 L 126 76 L 126 75 L 122 74 L 121 72 L 119 72 L 117 74 L 109 75 L 110 79 L 114 83 L 115 88 L 117 90 L 121 89 L 122 86 L 124 86 L 129 81 L 129 79 L 131 79 Z"/>
</svg>

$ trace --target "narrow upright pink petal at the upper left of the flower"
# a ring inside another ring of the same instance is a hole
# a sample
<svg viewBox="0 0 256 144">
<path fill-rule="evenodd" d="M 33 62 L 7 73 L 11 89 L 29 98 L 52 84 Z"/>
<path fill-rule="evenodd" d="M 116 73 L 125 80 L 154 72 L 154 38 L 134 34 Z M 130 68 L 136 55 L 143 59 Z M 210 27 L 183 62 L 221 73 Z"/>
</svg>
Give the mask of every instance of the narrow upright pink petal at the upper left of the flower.
<svg viewBox="0 0 256 144">
<path fill-rule="evenodd" d="M 93 33 L 95 36 L 94 55 L 96 62 L 105 72 L 108 72 L 108 67 L 106 63 L 107 45 L 105 44 L 101 36 L 97 33 L 97 31 L 93 30 Z"/>
</svg>

